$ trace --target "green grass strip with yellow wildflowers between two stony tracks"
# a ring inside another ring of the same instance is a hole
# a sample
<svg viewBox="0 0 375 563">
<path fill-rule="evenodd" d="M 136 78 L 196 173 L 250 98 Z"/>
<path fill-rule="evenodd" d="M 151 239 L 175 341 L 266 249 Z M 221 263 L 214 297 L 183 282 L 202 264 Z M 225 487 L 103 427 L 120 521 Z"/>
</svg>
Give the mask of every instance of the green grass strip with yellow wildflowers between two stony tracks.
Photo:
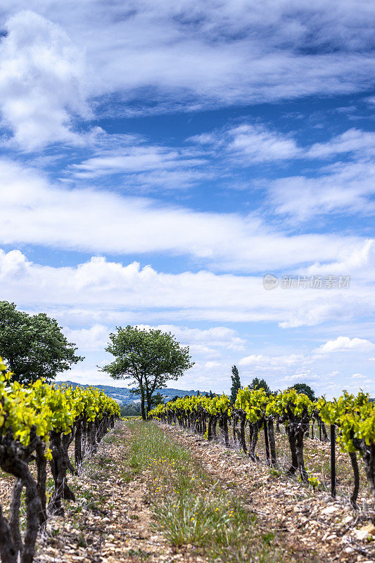
<svg viewBox="0 0 375 563">
<path fill-rule="evenodd" d="M 172 545 L 193 546 L 215 563 L 283 561 L 243 500 L 212 481 L 188 450 L 153 422 L 127 424 L 129 465 L 148 475 L 153 526 Z"/>
</svg>

